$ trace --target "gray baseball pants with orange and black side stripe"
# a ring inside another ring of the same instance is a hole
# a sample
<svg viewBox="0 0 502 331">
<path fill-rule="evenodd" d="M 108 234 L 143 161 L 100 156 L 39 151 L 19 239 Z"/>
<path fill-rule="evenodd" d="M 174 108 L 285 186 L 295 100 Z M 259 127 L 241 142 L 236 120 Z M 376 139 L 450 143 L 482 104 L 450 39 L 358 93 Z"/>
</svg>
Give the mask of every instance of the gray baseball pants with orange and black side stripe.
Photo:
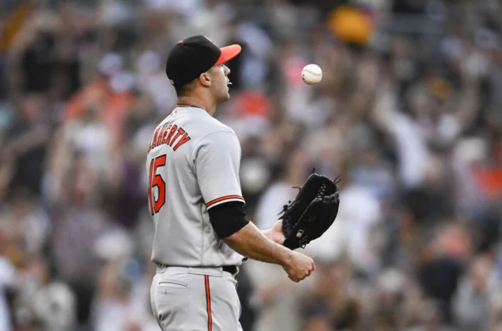
<svg viewBox="0 0 502 331">
<path fill-rule="evenodd" d="M 163 331 L 242 331 L 237 281 L 222 268 L 158 266 L 151 307 Z"/>
</svg>

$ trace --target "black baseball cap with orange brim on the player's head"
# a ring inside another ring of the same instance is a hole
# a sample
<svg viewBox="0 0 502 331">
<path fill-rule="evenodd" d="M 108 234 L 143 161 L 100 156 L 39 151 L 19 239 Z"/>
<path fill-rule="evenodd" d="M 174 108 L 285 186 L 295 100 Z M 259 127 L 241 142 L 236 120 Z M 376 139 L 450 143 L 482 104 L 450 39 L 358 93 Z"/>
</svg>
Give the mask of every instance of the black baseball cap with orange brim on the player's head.
<svg viewBox="0 0 502 331">
<path fill-rule="evenodd" d="M 218 47 L 205 36 L 181 40 L 169 52 L 166 75 L 176 88 L 192 82 L 213 66 L 234 59 L 241 52 L 240 45 Z"/>
</svg>

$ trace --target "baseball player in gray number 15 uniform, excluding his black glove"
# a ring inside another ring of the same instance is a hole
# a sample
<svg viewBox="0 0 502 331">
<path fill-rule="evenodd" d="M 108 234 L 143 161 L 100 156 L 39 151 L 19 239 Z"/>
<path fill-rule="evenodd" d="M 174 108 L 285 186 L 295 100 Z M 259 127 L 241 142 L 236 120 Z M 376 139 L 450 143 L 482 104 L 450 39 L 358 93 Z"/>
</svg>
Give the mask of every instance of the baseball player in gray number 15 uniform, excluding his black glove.
<svg viewBox="0 0 502 331">
<path fill-rule="evenodd" d="M 167 59 L 177 105 L 155 129 L 146 160 L 158 265 L 151 306 L 165 331 L 242 330 L 236 275 L 245 259 L 282 265 L 294 282 L 314 270 L 312 259 L 281 245 L 281 221 L 260 231 L 243 213 L 241 146 L 213 118 L 230 98 L 224 63 L 240 52 L 193 36 Z"/>
</svg>

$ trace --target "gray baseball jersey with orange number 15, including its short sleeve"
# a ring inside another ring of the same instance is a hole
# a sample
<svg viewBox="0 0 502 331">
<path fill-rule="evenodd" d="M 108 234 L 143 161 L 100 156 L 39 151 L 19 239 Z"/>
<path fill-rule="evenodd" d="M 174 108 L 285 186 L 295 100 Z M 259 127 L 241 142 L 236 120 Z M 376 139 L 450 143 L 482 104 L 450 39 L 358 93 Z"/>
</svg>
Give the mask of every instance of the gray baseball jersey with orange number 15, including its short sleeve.
<svg viewBox="0 0 502 331">
<path fill-rule="evenodd" d="M 176 107 L 153 134 L 146 159 L 155 224 L 152 261 L 183 267 L 241 265 L 208 210 L 243 201 L 241 146 L 233 130 L 197 107 Z"/>
</svg>

